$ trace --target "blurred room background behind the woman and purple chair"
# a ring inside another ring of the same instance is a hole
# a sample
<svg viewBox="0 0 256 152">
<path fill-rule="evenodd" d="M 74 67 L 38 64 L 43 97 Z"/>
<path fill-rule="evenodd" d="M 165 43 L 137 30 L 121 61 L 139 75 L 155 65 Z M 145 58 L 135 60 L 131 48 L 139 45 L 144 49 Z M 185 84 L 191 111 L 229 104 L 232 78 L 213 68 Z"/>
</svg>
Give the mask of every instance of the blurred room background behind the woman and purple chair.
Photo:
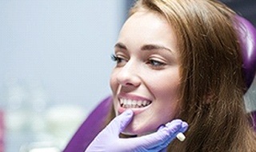
<svg viewBox="0 0 256 152">
<path fill-rule="evenodd" d="M 110 94 L 110 55 L 133 2 L 0 0 L 0 152 L 66 146 Z M 256 25 L 255 0 L 223 2 Z M 248 111 L 255 91 L 254 81 Z"/>
</svg>

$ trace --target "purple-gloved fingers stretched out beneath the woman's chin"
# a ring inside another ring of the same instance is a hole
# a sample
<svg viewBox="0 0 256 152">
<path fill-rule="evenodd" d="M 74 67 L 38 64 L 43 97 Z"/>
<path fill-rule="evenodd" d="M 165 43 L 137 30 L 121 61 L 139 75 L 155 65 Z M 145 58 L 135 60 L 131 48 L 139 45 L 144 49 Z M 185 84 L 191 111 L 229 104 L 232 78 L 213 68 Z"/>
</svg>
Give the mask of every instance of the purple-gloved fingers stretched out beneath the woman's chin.
<svg viewBox="0 0 256 152">
<path fill-rule="evenodd" d="M 148 134 L 138 138 L 140 145 L 147 147 L 147 149 L 162 150 L 165 148 L 179 132 L 185 132 L 187 129 L 186 122 L 176 119 L 161 127 L 157 132 Z"/>
</svg>

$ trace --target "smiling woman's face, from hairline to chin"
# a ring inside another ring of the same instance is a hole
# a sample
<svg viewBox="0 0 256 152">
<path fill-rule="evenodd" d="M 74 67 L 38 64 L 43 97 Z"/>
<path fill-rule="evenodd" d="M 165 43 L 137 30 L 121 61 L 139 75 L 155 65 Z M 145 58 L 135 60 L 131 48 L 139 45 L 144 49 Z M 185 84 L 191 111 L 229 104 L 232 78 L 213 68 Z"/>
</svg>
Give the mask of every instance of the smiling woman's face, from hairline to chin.
<svg viewBox="0 0 256 152">
<path fill-rule="evenodd" d="M 134 111 L 125 134 L 148 134 L 178 111 L 179 58 L 170 24 L 139 11 L 122 26 L 114 46 L 117 65 L 110 78 L 115 113 Z"/>
</svg>

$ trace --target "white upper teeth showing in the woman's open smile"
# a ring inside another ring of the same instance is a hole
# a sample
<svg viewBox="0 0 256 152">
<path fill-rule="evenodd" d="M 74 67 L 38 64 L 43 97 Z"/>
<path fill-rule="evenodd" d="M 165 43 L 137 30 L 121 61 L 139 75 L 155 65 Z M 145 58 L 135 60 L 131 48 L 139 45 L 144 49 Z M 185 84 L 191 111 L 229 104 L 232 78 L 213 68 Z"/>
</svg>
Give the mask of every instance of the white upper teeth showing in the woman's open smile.
<svg viewBox="0 0 256 152">
<path fill-rule="evenodd" d="M 119 103 L 122 108 L 143 108 L 151 104 L 147 100 L 131 100 L 126 98 L 120 98 Z"/>
</svg>

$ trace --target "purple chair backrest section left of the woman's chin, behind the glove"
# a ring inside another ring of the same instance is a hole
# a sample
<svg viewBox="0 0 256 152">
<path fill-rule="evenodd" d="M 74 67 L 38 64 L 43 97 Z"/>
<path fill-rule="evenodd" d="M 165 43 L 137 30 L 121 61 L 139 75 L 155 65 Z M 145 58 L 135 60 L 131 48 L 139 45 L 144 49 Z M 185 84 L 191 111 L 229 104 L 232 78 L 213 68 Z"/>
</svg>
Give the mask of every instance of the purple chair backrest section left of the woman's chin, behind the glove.
<svg viewBox="0 0 256 152">
<path fill-rule="evenodd" d="M 103 129 L 103 123 L 106 121 L 106 116 L 110 111 L 112 98 L 107 97 L 90 113 L 82 126 L 71 138 L 63 152 L 84 152 L 90 142 Z"/>
</svg>

